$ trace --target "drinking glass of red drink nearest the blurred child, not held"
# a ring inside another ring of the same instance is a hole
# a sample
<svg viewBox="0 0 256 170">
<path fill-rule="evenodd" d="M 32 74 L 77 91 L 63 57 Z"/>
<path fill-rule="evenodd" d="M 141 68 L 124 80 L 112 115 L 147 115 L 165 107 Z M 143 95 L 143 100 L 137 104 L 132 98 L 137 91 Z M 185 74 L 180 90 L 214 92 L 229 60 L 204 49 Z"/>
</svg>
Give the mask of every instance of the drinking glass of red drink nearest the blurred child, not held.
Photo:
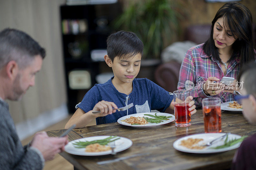
<svg viewBox="0 0 256 170">
<path fill-rule="evenodd" d="M 221 110 L 220 110 L 220 98 L 211 97 L 204 98 L 203 115 L 204 115 L 204 132 L 205 133 L 217 133 L 221 132 Z"/>
</svg>

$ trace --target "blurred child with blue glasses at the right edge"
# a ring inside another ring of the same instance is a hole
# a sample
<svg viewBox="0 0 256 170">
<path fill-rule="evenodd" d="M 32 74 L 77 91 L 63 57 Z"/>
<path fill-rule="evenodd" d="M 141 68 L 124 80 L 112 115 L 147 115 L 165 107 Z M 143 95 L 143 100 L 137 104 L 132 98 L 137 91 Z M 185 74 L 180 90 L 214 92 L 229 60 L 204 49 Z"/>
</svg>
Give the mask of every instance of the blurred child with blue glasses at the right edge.
<svg viewBox="0 0 256 170">
<path fill-rule="evenodd" d="M 245 65 L 239 73 L 238 82 L 243 82 L 242 96 L 235 99 L 243 104 L 244 117 L 250 123 L 256 123 L 256 64 Z M 231 169 L 256 168 L 256 134 L 243 141 L 233 158 Z"/>
</svg>

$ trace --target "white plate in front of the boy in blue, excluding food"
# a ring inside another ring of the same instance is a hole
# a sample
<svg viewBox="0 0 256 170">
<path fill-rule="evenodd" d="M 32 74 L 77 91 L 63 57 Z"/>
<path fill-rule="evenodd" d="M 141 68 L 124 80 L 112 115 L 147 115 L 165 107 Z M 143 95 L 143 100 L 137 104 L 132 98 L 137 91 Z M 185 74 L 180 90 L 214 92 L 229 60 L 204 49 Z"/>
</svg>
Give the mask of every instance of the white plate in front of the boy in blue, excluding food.
<svg viewBox="0 0 256 170">
<path fill-rule="evenodd" d="M 117 120 L 117 122 L 121 125 L 126 125 L 126 126 L 132 126 L 132 127 L 135 127 L 135 128 L 150 128 L 150 127 L 155 127 L 155 126 L 160 126 L 160 125 L 163 125 L 163 124 L 166 124 L 166 123 L 170 123 L 172 121 L 175 120 L 175 116 L 172 115 L 172 114 L 169 114 L 169 113 L 161 113 L 161 112 L 157 112 L 156 115 L 157 116 L 172 116 L 171 118 L 168 118 L 169 120 L 164 120 L 163 122 L 160 122 L 160 123 L 147 123 L 146 125 L 131 125 L 129 123 L 126 123 L 124 121 L 121 121 L 121 120 L 125 120 L 126 118 L 129 118 L 131 116 L 133 117 L 143 117 L 145 116 L 144 114 L 151 114 L 151 115 L 154 115 L 155 116 L 155 113 L 156 112 L 148 112 L 148 113 L 135 113 L 135 114 L 129 114 L 128 116 L 123 116 L 121 118 L 119 118 Z M 148 118 L 153 118 L 153 117 L 150 117 L 150 116 L 145 116 L 145 117 L 148 117 Z"/>
</svg>

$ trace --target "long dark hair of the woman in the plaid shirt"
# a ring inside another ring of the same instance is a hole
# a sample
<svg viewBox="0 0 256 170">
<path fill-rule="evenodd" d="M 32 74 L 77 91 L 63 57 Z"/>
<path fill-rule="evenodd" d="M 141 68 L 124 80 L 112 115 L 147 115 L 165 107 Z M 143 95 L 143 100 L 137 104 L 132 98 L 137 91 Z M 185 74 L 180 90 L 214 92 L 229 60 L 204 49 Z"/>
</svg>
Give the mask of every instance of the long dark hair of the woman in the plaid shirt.
<svg viewBox="0 0 256 170">
<path fill-rule="evenodd" d="M 240 57 L 240 66 L 255 60 L 255 44 L 252 35 L 252 14 L 250 10 L 239 2 L 224 4 L 212 20 L 210 38 L 204 43 L 203 49 L 208 56 L 212 55 L 221 63 L 218 48 L 213 40 L 213 29 L 215 22 L 223 17 L 223 22 L 230 28 L 230 31 L 237 40 L 233 43 L 233 53 L 229 61 L 236 55 Z M 224 24 L 225 25 L 225 24 Z"/>
</svg>

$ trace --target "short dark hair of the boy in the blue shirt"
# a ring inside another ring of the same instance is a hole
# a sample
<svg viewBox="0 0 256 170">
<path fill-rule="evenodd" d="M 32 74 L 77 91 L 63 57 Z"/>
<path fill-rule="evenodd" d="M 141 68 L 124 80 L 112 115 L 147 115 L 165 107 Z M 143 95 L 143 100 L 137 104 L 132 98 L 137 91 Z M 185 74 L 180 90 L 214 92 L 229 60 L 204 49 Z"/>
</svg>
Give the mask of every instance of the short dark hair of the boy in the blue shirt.
<svg viewBox="0 0 256 170">
<path fill-rule="evenodd" d="M 108 36 L 107 53 L 111 61 L 115 57 L 128 58 L 136 54 L 143 56 L 143 43 L 133 32 L 118 31 Z"/>
</svg>

